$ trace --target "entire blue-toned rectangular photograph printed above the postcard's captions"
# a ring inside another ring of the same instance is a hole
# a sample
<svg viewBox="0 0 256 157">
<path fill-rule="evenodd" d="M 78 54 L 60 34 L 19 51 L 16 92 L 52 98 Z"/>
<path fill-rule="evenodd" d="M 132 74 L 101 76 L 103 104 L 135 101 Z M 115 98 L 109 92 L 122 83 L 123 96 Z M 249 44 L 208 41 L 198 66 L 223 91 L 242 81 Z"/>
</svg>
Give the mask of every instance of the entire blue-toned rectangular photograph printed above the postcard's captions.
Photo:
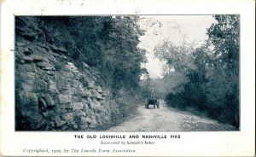
<svg viewBox="0 0 256 157">
<path fill-rule="evenodd" d="M 15 131 L 239 131 L 240 15 L 15 16 Z"/>
</svg>

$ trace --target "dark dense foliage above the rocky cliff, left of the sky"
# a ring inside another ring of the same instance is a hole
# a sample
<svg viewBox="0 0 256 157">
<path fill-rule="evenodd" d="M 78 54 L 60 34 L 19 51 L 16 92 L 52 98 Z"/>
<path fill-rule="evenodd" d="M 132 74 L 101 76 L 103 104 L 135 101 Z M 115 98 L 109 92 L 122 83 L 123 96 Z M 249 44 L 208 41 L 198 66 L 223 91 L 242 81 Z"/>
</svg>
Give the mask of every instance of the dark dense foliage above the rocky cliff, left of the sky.
<svg viewBox="0 0 256 157">
<path fill-rule="evenodd" d="M 138 16 L 43 16 L 40 22 L 55 40 L 68 50 L 79 67 L 83 62 L 98 69 L 102 84 L 119 96 L 137 90 L 146 61 L 139 49 L 143 30 Z M 50 42 L 50 41 L 49 41 Z"/>
</svg>

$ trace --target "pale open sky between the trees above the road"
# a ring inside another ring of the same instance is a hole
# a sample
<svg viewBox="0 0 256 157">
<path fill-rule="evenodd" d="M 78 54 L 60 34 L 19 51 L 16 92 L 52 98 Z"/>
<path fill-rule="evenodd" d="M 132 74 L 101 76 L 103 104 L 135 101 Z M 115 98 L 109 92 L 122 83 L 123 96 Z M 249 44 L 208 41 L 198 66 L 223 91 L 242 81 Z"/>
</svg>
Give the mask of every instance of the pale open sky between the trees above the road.
<svg viewBox="0 0 256 157">
<path fill-rule="evenodd" d="M 154 47 L 168 39 L 180 45 L 182 41 L 200 46 L 207 40 L 207 28 L 216 20 L 212 15 L 147 15 L 141 16 L 140 26 L 146 31 L 140 38 L 140 48 L 147 50 L 148 69 L 151 78 L 162 78 L 164 62 L 154 57 Z"/>
</svg>

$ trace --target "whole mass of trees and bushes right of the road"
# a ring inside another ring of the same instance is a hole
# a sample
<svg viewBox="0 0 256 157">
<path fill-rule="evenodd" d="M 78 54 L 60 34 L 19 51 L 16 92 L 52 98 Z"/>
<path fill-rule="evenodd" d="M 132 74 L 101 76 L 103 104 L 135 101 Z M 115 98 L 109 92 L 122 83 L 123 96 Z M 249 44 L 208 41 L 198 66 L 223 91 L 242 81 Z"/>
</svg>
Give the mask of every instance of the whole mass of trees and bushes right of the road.
<svg viewBox="0 0 256 157">
<path fill-rule="evenodd" d="M 239 128 L 239 16 L 215 15 L 200 48 L 158 45 L 155 56 L 166 61 L 166 102 L 172 107 L 203 113 Z"/>
</svg>

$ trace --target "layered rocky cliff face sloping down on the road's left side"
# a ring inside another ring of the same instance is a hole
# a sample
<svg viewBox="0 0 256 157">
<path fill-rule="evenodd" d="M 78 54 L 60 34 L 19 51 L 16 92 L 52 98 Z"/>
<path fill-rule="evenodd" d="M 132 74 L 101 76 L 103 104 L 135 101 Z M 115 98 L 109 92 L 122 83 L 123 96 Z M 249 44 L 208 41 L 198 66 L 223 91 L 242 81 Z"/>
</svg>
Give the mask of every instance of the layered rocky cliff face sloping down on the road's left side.
<svg viewBox="0 0 256 157">
<path fill-rule="evenodd" d="M 99 130 L 119 113 L 99 73 L 76 67 L 35 18 L 15 20 L 16 130 Z"/>
</svg>

